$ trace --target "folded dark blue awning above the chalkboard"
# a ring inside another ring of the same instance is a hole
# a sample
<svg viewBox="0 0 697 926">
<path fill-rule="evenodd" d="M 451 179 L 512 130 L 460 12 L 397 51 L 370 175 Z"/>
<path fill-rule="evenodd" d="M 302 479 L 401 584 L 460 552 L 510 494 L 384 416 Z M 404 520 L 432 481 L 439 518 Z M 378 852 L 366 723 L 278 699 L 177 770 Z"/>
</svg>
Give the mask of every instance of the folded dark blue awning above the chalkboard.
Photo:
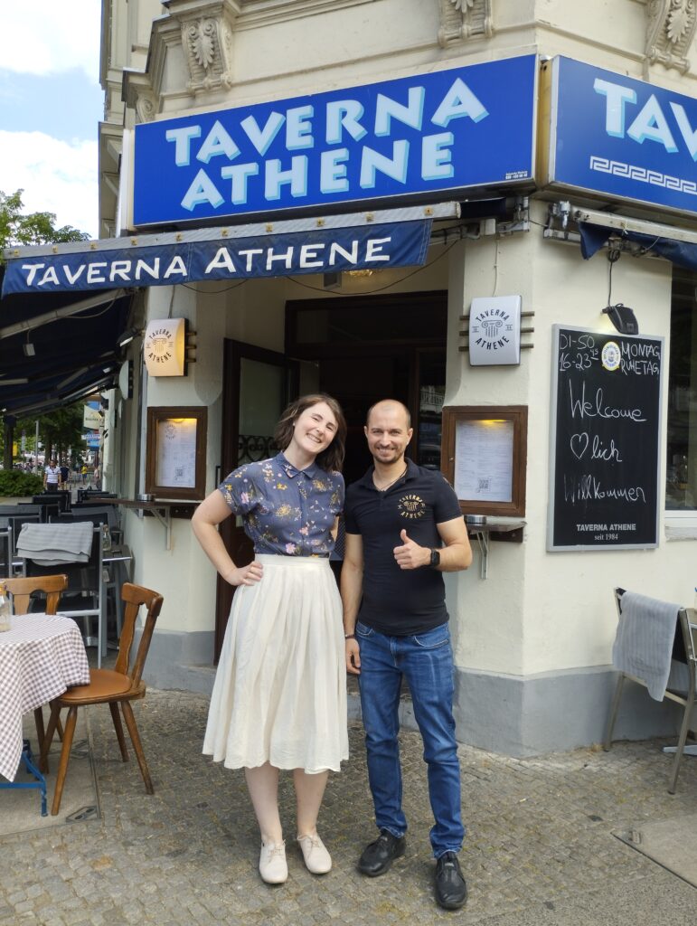
<svg viewBox="0 0 697 926">
<path fill-rule="evenodd" d="M 638 244 L 647 253 L 665 257 L 678 267 L 697 270 L 697 232 L 591 209 L 574 209 L 571 214 L 579 225 L 581 254 L 586 260 L 615 235 L 622 241 Z"/>
</svg>

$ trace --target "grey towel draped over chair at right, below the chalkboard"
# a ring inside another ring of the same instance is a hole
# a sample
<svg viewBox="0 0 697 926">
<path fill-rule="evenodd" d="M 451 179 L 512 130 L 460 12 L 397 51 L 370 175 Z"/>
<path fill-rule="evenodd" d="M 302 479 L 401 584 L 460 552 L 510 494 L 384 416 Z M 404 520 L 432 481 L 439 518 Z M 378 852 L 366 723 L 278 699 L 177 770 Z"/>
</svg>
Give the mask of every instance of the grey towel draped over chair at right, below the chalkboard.
<svg viewBox="0 0 697 926">
<path fill-rule="evenodd" d="M 680 606 L 635 592 L 625 592 L 619 603 L 613 665 L 641 679 L 653 699 L 663 701 Z"/>
</svg>

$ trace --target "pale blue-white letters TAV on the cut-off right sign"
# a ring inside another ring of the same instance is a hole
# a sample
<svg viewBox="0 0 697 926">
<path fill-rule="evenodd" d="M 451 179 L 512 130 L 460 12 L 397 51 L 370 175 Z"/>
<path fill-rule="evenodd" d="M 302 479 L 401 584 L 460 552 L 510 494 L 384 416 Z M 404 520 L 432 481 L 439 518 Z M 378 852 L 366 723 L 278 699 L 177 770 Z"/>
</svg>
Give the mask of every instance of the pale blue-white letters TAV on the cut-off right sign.
<svg viewBox="0 0 697 926">
<path fill-rule="evenodd" d="M 641 106 L 640 111 L 632 120 L 629 129 L 626 129 L 628 116 L 631 115 L 629 107 L 637 106 L 637 94 L 631 87 L 614 81 L 604 81 L 597 78 L 593 81 L 593 90 L 606 98 L 605 103 L 605 131 L 614 138 L 629 137 L 637 144 L 646 141 L 662 144 L 667 154 L 678 152 L 675 136 L 670 129 L 666 113 L 655 94 Z M 670 103 L 670 109 L 676 120 L 679 135 L 687 146 L 692 160 L 697 160 L 697 129 L 693 129 L 688 119 L 685 107 L 678 103 Z"/>
</svg>

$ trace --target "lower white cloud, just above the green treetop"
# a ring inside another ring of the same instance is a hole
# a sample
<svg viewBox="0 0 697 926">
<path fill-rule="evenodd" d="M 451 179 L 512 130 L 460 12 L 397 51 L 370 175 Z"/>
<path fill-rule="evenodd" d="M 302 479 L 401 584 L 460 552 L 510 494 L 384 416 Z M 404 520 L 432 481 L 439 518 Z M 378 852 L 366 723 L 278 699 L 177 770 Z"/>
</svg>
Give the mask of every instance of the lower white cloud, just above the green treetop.
<svg viewBox="0 0 697 926">
<path fill-rule="evenodd" d="M 56 224 L 96 237 L 97 143 L 41 131 L 0 131 L 0 189 L 23 190 L 24 212 L 55 212 Z"/>
</svg>

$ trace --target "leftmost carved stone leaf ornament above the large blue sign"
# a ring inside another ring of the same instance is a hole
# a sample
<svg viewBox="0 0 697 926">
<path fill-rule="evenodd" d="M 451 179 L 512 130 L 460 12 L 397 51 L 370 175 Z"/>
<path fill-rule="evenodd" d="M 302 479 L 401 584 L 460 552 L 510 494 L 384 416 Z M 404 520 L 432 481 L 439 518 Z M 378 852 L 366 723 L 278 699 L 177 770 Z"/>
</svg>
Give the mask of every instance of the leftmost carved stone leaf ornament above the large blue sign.
<svg viewBox="0 0 697 926">
<path fill-rule="evenodd" d="M 182 19 L 181 44 L 191 74 L 187 88 L 192 93 L 232 85 L 232 33 L 222 8 L 217 16 Z"/>
</svg>

